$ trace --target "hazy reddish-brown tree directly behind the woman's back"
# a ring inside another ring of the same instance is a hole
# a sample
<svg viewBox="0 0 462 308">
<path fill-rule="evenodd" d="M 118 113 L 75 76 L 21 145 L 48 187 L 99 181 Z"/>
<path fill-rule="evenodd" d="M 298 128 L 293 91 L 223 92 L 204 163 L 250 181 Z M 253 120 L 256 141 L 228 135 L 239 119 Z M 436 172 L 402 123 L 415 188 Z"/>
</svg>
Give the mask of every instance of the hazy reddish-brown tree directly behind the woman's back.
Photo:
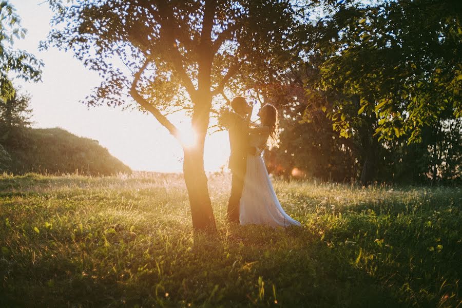
<svg viewBox="0 0 462 308">
<path fill-rule="evenodd" d="M 280 83 L 261 89 L 265 102 L 280 110 L 279 147 L 265 152 L 268 171 L 285 178 L 356 178 L 352 139 L 339 137 L 324 112 L 306 105 L 301 74 L 294 68 L 279 78 Z"/>
</svg>

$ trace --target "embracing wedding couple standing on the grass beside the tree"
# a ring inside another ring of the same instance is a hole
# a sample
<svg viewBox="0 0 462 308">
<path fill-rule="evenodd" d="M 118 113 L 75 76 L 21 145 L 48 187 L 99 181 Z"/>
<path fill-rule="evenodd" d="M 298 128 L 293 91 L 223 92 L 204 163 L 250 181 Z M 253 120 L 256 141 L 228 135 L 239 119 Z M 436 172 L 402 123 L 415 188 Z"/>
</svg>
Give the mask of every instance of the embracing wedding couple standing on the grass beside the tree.
<svg viewBox="0 0 462 308">
<path fill-rule="evenodd" d="M 243 224 L 266 224 L 273 227 L 300 225 L 281 207 L 262 158 L 263 150 L 277 143 L 278 112 L 270 104 L 258 112 L 260 124 L 250 123 L 252 106 L 243 97 L 231 102 L 233 111 L 223 112 L 221 124 L 228 129 L 231 155 L 231 196 L 227 218 Z"/>
</svg>

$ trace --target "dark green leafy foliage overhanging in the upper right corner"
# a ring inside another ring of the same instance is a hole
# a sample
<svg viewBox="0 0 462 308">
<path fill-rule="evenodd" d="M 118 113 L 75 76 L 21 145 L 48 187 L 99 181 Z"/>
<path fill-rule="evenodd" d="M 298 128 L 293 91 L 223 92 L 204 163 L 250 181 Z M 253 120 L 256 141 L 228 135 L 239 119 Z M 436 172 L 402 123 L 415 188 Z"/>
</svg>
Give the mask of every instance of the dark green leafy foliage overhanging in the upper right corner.
<svg viewBox="0 0 462 308">
<path fill-rule="evenodd" d="M 362 115 L 376 118 L 379 139 L 409 142 L 442 117 L 461 117 L 460 11 L 458 1 L 434 0 L 342 7 L 316 25 L 310 99 L 344 137 Z"/>
</svg>

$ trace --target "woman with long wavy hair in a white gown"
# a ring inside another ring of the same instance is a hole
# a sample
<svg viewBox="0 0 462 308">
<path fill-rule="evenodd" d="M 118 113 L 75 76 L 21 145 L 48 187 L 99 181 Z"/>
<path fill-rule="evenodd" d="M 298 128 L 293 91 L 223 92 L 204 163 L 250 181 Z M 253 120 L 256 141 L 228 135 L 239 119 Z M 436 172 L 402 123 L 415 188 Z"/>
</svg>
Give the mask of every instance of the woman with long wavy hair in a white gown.
<svg viewBox="0 0 462 308">
<path fill-rule="evenodd" d="M 240 222 L 244 224 L 267 224 L 273 227 L 297 225 L 300 223 L 285 214 L 279 203 L 273 184 L 269 179 L 261 157 L 263 149 L 271 149 L 277 143 L 278 111 L 266 104 L 258 112 L 261 125 L 252 128 L 250 146 L 256 148 L 255 155 L 247 155 L 247 171 L 240 201 Z"/>
</svg>

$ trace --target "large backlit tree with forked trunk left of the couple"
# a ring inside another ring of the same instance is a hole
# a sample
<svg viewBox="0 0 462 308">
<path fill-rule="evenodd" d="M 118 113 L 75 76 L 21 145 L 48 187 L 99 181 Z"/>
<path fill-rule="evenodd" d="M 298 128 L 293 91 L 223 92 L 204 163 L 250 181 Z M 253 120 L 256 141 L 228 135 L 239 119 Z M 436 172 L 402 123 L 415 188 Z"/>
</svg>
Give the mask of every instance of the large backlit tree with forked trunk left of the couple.
<svg viewBox="0 0 462 308">
<path fill-rule="evenodd" d="M 88 105 L 136 102 L 179 140 L 192 224 L 215 228 L 203 167 L 210 111 L 229 85 L 242 84 L 240 70 L 268 75 L 280 67 L 278 54 L 291 47 L 299 6 L 276 0 L 50 3 L 59 27 L 44 47 L 71 49 L 101 74 Z M 166 117 L 179 110 L 191 117 L 194 146 Z"/>
</svg>

